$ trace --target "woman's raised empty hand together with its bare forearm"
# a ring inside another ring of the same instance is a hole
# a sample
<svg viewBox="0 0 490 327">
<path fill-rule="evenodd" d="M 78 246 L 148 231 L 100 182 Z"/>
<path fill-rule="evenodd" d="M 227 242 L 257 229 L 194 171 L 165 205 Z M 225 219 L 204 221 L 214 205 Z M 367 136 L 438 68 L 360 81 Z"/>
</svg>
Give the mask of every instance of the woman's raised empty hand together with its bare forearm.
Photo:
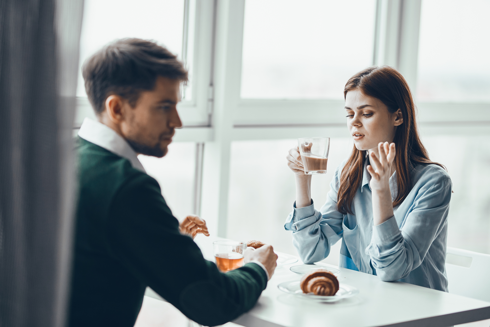
<svg viewBox="0 0 490 327">
<path fill-rule="evenodd" d="M 395 144 L 380 142 L 378 144 L 379 158 L 374 151 L 369 153 L 367 169 L 371 175 L 369 186 L 372 191 L 373 223 L 379 225 L 393 217 L 392 193 L 390 177 L 395 159 Z"/>
</svg>

